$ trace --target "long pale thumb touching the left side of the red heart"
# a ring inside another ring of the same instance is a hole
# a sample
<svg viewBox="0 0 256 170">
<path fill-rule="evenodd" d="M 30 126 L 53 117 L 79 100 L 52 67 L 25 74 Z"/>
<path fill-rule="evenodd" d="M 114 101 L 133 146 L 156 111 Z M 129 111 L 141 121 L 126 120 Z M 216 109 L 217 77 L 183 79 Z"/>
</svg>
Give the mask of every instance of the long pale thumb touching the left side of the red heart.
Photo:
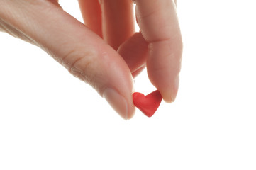
<svg viewBox="0 0 256 170">
<path fill-rule="evenodd" d="M 0 18 L 28 35 L 74 76 L 91 84 L 123 118 L 133 116 L 130 70 L 98 35 L 49 1 L 2 0 L 0 4 L 4 5 L 0 6 Z"/>
</svg>

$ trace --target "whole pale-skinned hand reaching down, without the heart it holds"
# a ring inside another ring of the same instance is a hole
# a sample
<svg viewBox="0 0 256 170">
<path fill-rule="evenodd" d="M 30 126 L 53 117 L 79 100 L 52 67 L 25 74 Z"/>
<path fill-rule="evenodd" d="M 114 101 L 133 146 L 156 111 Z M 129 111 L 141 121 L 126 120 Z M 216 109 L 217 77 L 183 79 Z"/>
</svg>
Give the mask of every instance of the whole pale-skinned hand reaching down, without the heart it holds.
<svg viewBox="0 0 256 170">
<path fill-rule="evenodd" d="M 56 0 L 1 0 L 0 30 L 41 47 L 125 119 L 135 113 L 133 77 L 145 67 L 164 100 L 174 101 L 182 59 L 176 1 L 79 0 L 79 6 L 84 24 Z"/>
</svg>

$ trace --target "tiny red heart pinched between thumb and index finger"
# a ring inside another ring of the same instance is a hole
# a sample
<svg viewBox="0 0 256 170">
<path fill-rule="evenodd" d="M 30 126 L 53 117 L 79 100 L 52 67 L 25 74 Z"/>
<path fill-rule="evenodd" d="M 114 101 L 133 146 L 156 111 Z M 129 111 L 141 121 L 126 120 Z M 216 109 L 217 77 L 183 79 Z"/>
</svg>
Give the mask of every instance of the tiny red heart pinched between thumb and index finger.
<svg viewBox="0 0 256 170">
<path fill-rule="evenodd" d="M 153 91 L 147 96 L 138 92 L 133 94 L 134 105 L 148 117 L 154 115 L 155 111 L 157 111 L 157 108 L 160 106 L 161 101 L 162 96 L 158 90 Z"/>
</svg>

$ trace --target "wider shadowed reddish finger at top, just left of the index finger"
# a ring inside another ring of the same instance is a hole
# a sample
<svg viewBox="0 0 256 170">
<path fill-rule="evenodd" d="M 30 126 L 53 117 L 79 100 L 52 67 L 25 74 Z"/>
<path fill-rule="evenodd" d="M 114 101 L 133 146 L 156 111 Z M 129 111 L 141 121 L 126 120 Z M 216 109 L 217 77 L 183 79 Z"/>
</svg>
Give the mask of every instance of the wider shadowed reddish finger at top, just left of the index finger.
<svg viewBox="0 0 256 170">
<path fill-rule="evenodd" d="M 113 49 L 135 33 L 133 2 L 130 0 L 101 0 L 103 37 Z"/>
</svg>

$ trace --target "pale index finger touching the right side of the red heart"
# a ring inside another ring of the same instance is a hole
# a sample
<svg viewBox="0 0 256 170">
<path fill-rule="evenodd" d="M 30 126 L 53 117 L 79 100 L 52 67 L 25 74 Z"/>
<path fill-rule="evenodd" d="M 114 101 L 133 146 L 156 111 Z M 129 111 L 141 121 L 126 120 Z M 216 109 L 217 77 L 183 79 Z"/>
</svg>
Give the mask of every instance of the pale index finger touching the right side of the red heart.
<svg viewBox="0 0 256 170">
<path fill-rule="evenodd" d="M 148 77 L 167 102 L 177 96 L 182 36 L 172 0 L 136 0 L 140 31 L 149 42 Z"/>
</svg>

